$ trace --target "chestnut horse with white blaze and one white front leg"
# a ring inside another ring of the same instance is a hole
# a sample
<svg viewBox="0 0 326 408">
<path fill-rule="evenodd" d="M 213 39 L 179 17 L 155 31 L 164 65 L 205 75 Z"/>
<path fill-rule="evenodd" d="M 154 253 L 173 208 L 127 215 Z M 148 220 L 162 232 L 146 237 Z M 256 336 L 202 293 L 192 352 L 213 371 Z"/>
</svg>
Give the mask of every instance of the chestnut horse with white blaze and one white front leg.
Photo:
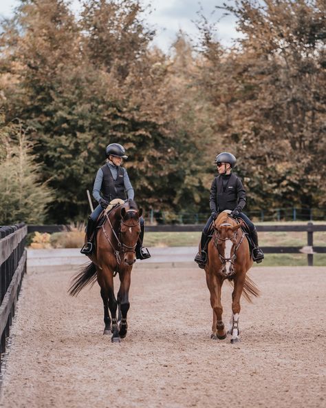
<svg viewBox="0 0 326 408">
<path fill-rule="evenodd" d="M 221 287 L 226 279 L 232 281 L 232 316 L 228 327 L 231 343 L 237 343 L 239 337 L 239 313 L 241 294 L 251 302 L 251 296 L 259 296 L 259 289 L 247 276 L 252 267 L 250 248 L 239 223 L 230 216 L 230 211 L 221 212 L 213 223 L 213 236 L 208 243 L 208 261 L 205 265 L 206 283 L 210 291 L 210 305 L 213 309 L 211 338 L 224 339 L 227 336 L 222 320 Z"/>
</svg>

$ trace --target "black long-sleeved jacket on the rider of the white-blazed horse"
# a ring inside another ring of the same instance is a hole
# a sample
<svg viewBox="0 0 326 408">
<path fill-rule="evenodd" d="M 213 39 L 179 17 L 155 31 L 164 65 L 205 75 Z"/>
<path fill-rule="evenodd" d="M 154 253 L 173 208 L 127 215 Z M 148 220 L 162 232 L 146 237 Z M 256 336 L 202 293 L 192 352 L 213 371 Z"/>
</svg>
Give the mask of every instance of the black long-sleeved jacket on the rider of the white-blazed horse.
<svg viewBox="0 0 326 408">
<path fill-rule="evenodd" d="M 212 212 L 234 210 L 235 207 L 243 210 L 246 206 L 246 191 L 241 179 L 234 173 L 215 177 L 210 187 L 209 206 Z"/>
</svg>

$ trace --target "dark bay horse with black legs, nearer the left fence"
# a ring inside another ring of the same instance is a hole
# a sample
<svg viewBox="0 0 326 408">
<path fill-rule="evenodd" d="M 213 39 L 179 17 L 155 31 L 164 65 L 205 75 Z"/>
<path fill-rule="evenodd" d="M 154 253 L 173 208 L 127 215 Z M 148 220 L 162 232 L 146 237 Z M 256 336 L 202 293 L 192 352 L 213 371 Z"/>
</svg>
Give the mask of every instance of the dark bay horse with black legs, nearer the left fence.
<svg viewBox="0 0 326 408">
<path fill-rule="evenodd" d="M 76 296 L 83 287 L 94 285 L 97 280 L 104 306 L 103 334 L 112 333 L 112 343 L 120 343 L 120 339 L 127 335 L 131 269 L 136 260 L 135 247 L 140 235 L 142 209 L 138 210 L 135 201 L 129 200 L 113 207 L 109 214 L 105 212 L 104 216 L 105 221 L 96 234 L 95 249 L 89 254 L 91 263 L 73 277 L 68 292 Z M 113 286 L 116 274 L 120 279 L 117 298 Z"/>
</svg>

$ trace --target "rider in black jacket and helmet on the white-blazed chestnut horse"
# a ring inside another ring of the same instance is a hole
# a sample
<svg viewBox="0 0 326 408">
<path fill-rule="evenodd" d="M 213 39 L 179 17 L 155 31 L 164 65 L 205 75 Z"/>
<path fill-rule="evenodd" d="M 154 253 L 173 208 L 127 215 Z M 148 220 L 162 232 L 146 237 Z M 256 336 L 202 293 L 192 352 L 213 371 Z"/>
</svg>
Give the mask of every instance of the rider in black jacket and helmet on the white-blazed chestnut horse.
<svg viewBox="0 0 326 408">
<path fill-rule="evenodd" d="M 246 222 L 250 230 L 250 238 L 254 244 L 252 259 L 257 263 L 263 261 L 263 252 L 258 246 L 257 230 L 248 216 L 242 212 L 246 205 L 246 191 L 243 188 L 241 179 L 236 174 L 231 173 L 236 161 L 235 156 L 228 152 L 220 153 L 215 158 L 219 175 L 215 177 L 210 187 L 209 203 L 211 215 L 202 232 L 201 249 L 195 256 L 195 261 L 201 268 L 204 268 L 207 261 L 206 247 L 209 239 L 208 230 L 210 224 L 215 220 L 217 214 L 224 210 L 232 210 L 230 214 L 232 217 L 241 218 Z"/>
</svg>

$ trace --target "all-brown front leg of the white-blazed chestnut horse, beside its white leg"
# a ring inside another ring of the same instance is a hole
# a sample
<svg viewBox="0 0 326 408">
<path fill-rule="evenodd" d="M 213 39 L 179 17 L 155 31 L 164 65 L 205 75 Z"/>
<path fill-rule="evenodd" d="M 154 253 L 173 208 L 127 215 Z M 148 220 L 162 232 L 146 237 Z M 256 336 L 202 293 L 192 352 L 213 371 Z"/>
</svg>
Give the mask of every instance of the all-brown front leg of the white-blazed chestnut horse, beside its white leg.
<svg viewBox="0 0 326 408">
<path fill-rule="evenodd" d="M 223 307 L 221 305 L 221 287 L 223 281 L 216 276 L 206 276 L 206 281 L 210 291 L 210 306 L 213 309 L 213 325 L 210 338 L 224 340 L 226 338 L 226 330 L 222 320 Z"/>
</svg>

